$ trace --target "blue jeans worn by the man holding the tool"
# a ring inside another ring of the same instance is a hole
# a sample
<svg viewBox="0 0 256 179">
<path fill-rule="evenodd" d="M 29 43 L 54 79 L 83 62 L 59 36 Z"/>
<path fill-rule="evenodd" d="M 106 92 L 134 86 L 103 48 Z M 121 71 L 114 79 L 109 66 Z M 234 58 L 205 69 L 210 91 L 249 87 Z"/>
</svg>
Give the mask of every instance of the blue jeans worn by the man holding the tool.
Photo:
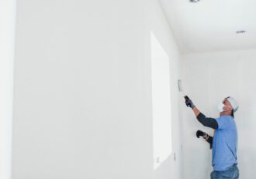
<svg viewBox="0 0 256 179">
<path fill-rule="evenodd" d="M 213 171 L 211 173 L 211 179 L 237 179 L 239 178 L 239 170 L 237 168 L 237 165 L 233 165 L 232 167 L 229 167 L 227 171 Z"/>
</svg>

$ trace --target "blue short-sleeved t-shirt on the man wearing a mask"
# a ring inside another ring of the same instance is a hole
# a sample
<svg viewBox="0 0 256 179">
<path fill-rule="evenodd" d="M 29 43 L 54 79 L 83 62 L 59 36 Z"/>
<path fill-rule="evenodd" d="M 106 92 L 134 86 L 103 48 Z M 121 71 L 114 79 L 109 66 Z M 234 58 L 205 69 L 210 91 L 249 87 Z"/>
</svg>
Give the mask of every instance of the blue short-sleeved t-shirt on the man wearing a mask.
<svg viewBox="0 0 256 179">
<path fill-rule="evenodd" d="M 213 137 L 213 170 L 226 171 L 237 164 L 237 126 L 231 116 L 221 116 L 216 121 L 218 129 Z"/>
</svg>

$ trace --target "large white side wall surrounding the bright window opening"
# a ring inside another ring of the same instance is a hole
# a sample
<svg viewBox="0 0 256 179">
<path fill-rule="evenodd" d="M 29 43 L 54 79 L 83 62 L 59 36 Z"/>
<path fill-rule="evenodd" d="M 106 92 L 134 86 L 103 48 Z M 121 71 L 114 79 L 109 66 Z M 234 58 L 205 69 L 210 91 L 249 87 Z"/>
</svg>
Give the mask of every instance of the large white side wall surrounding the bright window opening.
<svg viewBox="0 0 256 179">
<path fill-rule="evenodd" d="M 13 179 L 180 178 L 178 48 L 156 0 L 17 5 Z M 153 169 L 150 32 L 171 61 L 173 154 Z"/>
</svg>

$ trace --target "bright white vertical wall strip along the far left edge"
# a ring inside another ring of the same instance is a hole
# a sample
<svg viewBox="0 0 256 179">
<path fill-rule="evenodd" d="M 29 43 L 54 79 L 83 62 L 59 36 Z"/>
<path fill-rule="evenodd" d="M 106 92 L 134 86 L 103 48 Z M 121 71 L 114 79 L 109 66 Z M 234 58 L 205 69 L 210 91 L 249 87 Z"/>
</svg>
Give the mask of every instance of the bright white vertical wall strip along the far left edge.
<svg viewBox="0 0 256 179">
<path fill-rule="evenodd" d="M 0 1 L 0 178 L 11 177 L 15 1 Z"/>
</svg>

